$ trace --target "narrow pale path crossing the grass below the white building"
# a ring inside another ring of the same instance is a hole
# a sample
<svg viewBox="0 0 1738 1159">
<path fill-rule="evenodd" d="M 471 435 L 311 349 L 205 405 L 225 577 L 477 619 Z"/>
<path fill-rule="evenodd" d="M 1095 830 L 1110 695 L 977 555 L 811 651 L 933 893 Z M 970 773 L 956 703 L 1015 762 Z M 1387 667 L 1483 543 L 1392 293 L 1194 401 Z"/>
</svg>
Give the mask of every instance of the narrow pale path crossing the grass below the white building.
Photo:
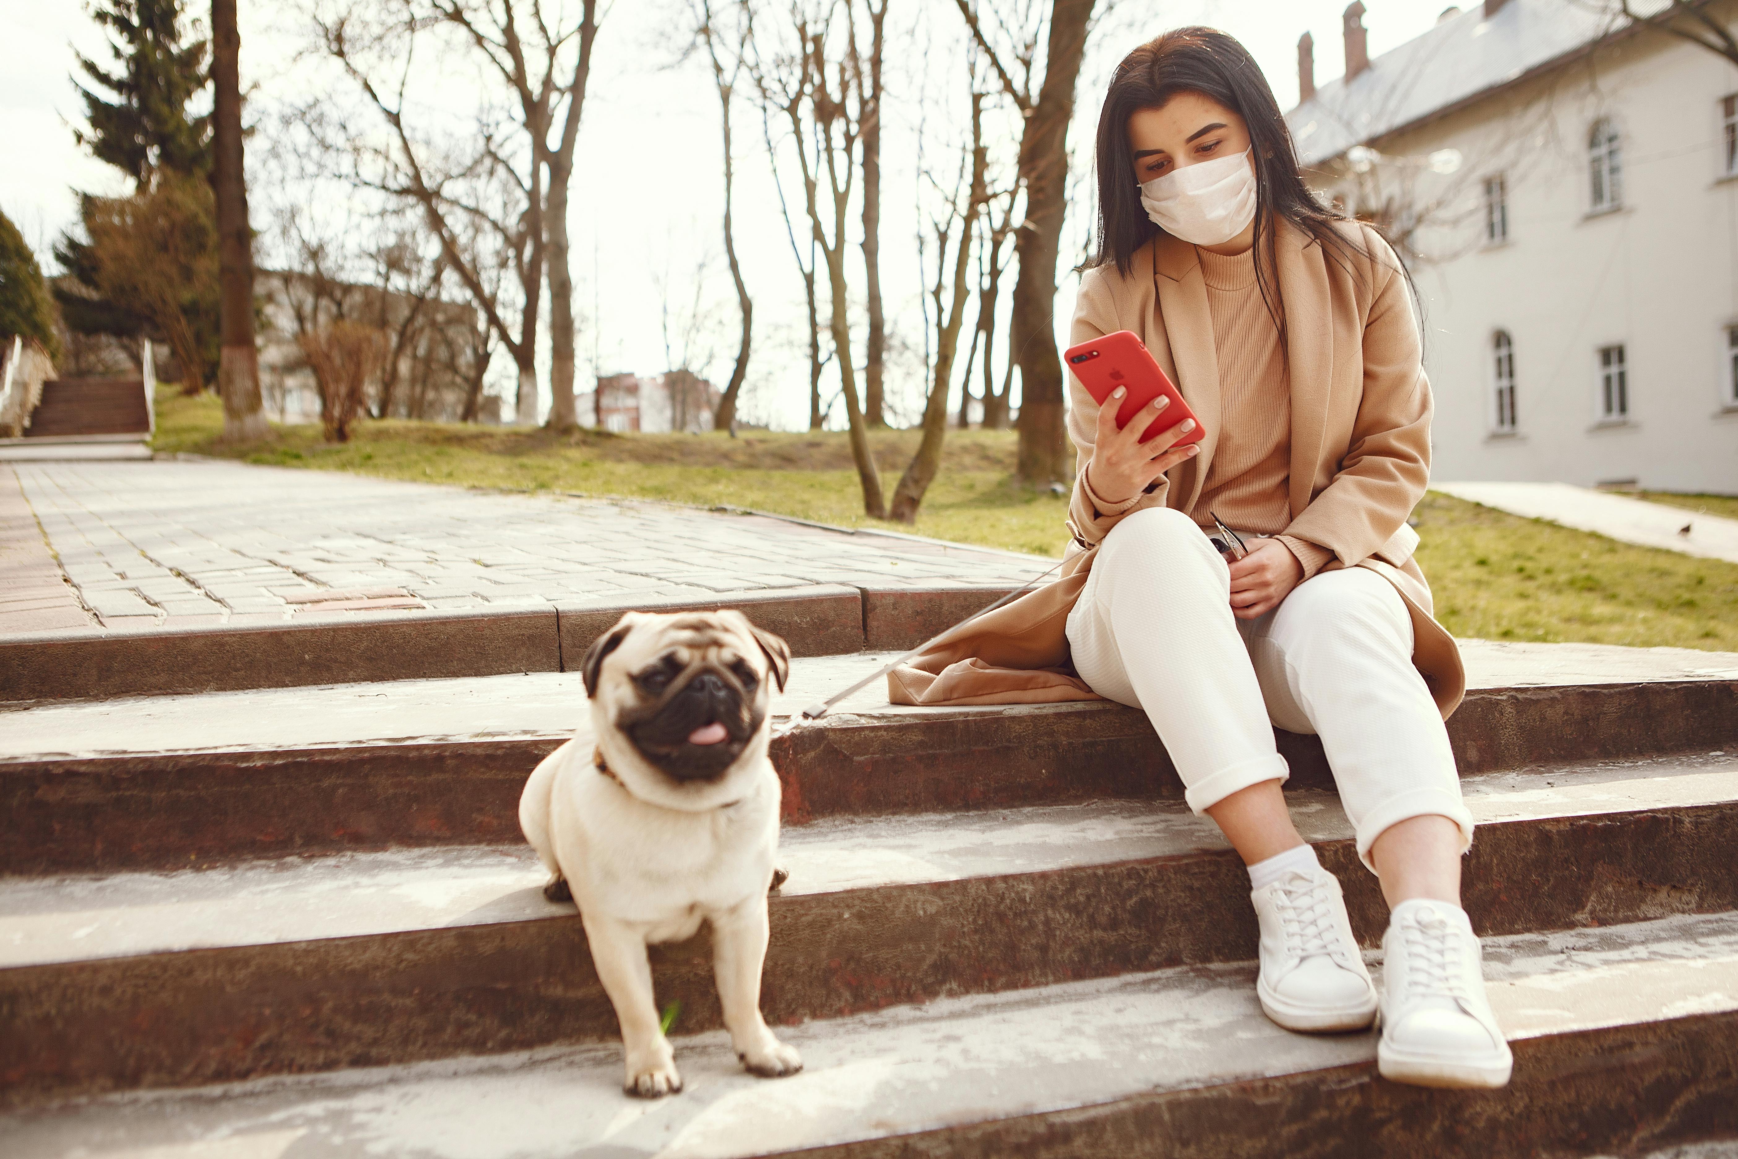
<svg viewBox="0 0 1738 1159">
<path fill-rule="evenodd" d="M 1430 490 L 1625 544 L 1738 563 L 1738 520 L 1667 507 L 1568 483 L 1430 483 Z M 1688 527 L 1689 533 L 1679 530 Z"/>
</svg>

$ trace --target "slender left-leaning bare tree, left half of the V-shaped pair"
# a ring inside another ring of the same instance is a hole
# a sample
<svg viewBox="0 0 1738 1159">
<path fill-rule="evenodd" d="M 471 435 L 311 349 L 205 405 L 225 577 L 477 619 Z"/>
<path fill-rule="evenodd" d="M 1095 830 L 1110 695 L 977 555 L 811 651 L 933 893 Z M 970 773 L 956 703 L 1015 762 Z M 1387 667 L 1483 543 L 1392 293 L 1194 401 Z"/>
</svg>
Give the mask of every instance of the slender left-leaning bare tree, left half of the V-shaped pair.
<svg viewBox="0 0 1738 1159">
<path fill-rule="evenodd" d="M 839 10 L 843 21 L 838 19 Z M 862 144 L 862 94 L 848 64 L 857 54 L 855 10 L 852 5 L 834 5 L 831 0 L 820 0 L 813 9 L 806 9 L 803 0 L 794 0 L 791 31 L 794 43 L 765 68 L 756 64 L 754 78 L 763 99 L 789 120 L 791 136 L 798 141 L 796 156 L 810 231 L 827 262 L 833 349 L 838 354 L 839 391 L 850 424 L 852 459 L 862 483 L 864 513 L 881 520 L 886 518 L 886 500 L 881 493 L 881 473 L 869 450 L 862 398 L 857 393 L 845 280 L 846 214 Z M 801 144 L 810 136 L 815 141 L 819 165 L 810 163 L 810 155 Z"/>
</svg>

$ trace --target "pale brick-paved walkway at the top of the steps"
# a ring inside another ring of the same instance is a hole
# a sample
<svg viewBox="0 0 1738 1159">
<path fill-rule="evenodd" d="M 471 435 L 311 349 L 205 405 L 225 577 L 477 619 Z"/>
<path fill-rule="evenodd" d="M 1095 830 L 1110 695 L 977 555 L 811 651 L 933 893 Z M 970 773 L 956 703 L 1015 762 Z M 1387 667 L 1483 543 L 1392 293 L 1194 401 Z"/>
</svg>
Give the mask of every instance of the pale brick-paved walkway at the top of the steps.
<svg viewBox="0 0 1738 1159">
<path fill-rule="evenodd" d="M 1008 586 L 1051 563 L 765 516 L 233 462 L 19 462 L 0 466 L 7 488 L 14 471 L 35 520 L 0 525 L 0 551 L 30 535 L 40 546 L 40 521 L 90 627 Z M 28 631 L 0 605 L 0 636 Z"/>
</svg>

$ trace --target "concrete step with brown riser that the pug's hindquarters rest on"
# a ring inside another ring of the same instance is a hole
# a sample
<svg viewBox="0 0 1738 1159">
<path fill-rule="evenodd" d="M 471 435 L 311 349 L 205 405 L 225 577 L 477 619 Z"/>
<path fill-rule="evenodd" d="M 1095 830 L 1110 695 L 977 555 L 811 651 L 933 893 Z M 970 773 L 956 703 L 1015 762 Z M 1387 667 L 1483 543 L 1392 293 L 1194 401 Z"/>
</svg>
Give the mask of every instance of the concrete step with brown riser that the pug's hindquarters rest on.
<svg viewBox="0 0 1738 1159">
<path fill-rule="evenodd" d="M 1465 791 L 1483 933 L 1738 907 L 1738 754 Z M 1338 799 L 1290 798 L 1375 944 Z M 784 1023 L 1255 952 L 1241 864 L 1177 801 L 820 822 L 782 862 L 763 1004 Z M 541 884 L 523 846 L 0 879 L 0 1100 L 612 1039 L 584 933 Z M 704 935 L 653 970 L 687 1029 L 718 1023 Z"/>
</svg>

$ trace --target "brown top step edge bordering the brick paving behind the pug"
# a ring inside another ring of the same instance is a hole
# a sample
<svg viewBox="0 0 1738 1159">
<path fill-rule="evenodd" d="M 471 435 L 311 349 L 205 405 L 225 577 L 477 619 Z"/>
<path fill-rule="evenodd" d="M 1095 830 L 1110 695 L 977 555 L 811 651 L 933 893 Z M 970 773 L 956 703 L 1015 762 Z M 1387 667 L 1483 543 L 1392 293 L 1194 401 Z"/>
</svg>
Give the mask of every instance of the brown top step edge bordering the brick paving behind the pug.
<svg viewBox="0 0 1738 1159">
<path fill-rule="evenodd" d="M 368 620 L 71 629 L 0 639 L 0 702 L 577 671 L 626 612 L 740 608 L 799 657 L 914 648 L 1012 587 L 839 584 L 713 599 L 377 613 Z"/>
</svg>

